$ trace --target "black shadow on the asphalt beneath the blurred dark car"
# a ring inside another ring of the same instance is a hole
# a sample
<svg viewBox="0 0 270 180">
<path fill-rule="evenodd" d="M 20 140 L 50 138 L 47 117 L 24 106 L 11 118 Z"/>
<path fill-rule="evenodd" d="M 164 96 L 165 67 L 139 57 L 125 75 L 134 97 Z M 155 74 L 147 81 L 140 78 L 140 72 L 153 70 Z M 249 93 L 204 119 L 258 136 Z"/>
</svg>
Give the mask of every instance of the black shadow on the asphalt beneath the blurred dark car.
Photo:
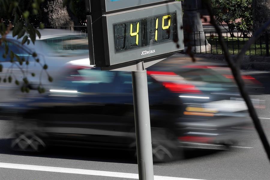
<svg viewBox="0 0 270 180">
<path fill-rule="evenodd" d="M 137 159 L 128 150 L 117 149 L 90 149 L 78 147 L 50 147 L 43 153 L 17 152 L 9 149 L 10 139 L 0 139 L 0 154 L 20 155 L 29 157 L 59 158 L 83 161 L 113 162 L 125 164 L 137 164 Z M 191 158 L 210 156 L 222 152 L 215 149 L 184 149 L 185 161 Z M 181 161 L 177 160 L 177 161 Z"/>
</svg>

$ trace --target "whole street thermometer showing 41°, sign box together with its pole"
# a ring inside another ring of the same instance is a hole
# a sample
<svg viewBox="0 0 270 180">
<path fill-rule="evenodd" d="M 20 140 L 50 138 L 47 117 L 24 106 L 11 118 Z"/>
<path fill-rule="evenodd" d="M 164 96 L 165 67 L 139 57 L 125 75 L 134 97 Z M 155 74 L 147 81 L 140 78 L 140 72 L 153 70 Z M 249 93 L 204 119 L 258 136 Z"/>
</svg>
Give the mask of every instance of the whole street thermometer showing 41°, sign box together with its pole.
<svg viewBox="0 0 270 180">
<path fill-rule="evenodd" d="M 90 0 L 90 9 L 90 64 L 132 71 L 139 179 L 154 179 L 145 68 L 184 49 L 181 2 Z"/>
</svg>

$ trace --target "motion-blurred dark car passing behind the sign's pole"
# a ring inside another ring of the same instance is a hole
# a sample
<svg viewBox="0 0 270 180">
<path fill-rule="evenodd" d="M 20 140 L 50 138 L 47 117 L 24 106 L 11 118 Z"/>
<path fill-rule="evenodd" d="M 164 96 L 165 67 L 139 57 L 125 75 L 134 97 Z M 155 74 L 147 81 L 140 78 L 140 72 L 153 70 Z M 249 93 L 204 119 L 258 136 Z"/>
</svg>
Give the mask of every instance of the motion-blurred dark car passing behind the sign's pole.
<svg viewBox="0 0 270 180">
<path fill-rule="evenodd" d="M 183 144 L 232 145 L 252 129 L 236 85 L 211 68 L 155 65 L 147 74 L 154 161 L 173 160 Z M 15 150 L 136 149 L 130 72 L 71 62 L 48 94 L 8 111 L 18 115 Z"/>
</svg>

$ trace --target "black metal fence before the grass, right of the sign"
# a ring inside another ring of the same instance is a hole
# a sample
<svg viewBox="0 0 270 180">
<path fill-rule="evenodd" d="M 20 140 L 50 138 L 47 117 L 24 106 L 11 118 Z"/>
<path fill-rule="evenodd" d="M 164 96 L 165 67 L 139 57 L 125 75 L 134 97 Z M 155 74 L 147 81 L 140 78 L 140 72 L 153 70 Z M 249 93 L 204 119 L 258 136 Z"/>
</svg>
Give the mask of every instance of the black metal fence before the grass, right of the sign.
<svg viewBox="0 0 270 180">
<path fill-rule="evenodd" d="M 184 35 L 187 43 L 193 46 L 191 51 L 195 54 L 223 54 L 217 32 L 195 31 L 191 34 Z M 234 32 L 232 37 L 228 32 L 223 32 L 222 37 L 225 41 L 226 48 L 232 55 L 237 55 L 243 48 L 244 44 L 252 37 L 252 32 L 243 35 L 240 32 Z M 245 55 L 269 56 L 269 34 L 263 34 L 257 41 L 252 44 Z M 195 46 L 195 48 L 194 48 Z"/>
</svg>

